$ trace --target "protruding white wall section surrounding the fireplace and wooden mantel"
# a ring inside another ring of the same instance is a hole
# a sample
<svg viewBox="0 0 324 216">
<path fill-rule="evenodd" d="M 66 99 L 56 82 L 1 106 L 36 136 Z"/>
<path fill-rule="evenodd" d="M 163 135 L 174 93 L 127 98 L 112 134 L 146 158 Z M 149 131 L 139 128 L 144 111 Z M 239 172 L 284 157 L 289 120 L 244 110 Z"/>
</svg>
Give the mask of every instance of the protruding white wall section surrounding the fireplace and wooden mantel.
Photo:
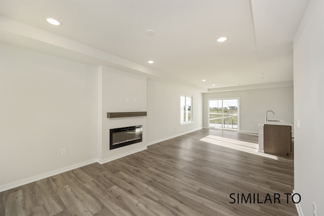
<svg viewBox="0 0 324 216">
<path fill-rule="evenodd" d="M 146 77 L 103 66 L 98 68 L 98 73 L 102 86 L 99 99 L 102 109 L 98 119 L 102 122 L 102 142 L 99 143 L 98 155 L 100 162 L 146 149 L 146 116 L 107 118 L 107 112 L 146 111 Z M 142 142 L 109 150 L 109 129 L 135 125 L 143 125 Z"/>
</svg>

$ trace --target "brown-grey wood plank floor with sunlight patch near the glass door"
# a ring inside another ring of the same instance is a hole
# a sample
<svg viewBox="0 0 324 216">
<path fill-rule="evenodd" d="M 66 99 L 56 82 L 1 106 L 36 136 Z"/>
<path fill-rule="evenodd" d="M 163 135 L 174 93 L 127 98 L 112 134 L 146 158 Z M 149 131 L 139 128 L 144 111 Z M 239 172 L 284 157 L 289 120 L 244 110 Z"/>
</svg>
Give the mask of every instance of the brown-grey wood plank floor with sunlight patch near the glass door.
<svg viewBox="0 0 324 216">
<path fill-rule="evenodd" d="M 200 129 L 4 191 L 0 215 L 298 215 L 284 195 L 293 190 L 293 157 L 258 153 L 257 142 Z"/>
</svg>

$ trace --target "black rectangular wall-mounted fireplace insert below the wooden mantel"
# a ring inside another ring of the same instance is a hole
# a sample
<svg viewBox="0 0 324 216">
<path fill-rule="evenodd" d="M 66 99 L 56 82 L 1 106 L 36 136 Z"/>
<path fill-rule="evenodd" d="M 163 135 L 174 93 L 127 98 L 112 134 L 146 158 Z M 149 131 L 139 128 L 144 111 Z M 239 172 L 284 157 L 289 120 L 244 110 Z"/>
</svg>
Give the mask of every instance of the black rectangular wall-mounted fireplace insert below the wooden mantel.
<svg viewBox="0 0 324 216">
<path fill-rule="evenodd" d="M 110 150 L 143 141 L 142 125 L 110 129 Z"/>
</svg>

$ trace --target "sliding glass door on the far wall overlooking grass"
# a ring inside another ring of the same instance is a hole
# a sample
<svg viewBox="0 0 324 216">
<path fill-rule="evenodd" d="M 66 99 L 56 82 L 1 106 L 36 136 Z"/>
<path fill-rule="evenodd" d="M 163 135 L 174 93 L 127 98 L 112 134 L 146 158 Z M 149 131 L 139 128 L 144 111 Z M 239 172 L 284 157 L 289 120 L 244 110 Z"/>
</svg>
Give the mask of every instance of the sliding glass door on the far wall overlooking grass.
<svg viewBox="0 0 324 216">
<path fill-rule="evenodd" d="M 238 99 L 209 100 L 209 127 L 238 130 Z"/>
</svg>

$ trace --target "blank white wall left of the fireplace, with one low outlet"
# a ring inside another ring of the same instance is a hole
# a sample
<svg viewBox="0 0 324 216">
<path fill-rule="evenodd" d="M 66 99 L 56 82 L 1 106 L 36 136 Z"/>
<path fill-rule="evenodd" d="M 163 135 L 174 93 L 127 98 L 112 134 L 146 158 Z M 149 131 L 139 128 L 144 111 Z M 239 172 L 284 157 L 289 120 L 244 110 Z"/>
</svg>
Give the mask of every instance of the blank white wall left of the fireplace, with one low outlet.
<svg viewBox="0 0 324 216">
<path fill-rule="evenodd" d="M 7 44 L 0 50 L 0 186 L 94 159 L 96 68 Z"/>
</svg>

